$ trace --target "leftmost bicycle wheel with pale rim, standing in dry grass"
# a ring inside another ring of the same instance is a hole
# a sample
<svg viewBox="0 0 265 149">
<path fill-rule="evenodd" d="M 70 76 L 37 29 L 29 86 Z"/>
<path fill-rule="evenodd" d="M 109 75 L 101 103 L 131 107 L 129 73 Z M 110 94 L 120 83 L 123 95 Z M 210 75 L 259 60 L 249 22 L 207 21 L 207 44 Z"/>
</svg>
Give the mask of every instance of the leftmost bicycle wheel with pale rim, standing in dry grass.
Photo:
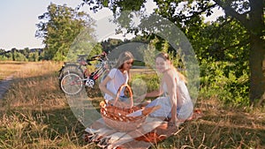
<svg viewBox="0 0 265 149">
<path fill-rule="evenodd" d="M 84 89 L 83 77 L 77 72 L 66 74 L 61 80 L 61 88 L 66 94 L 74 95 Z"/>
</svg>

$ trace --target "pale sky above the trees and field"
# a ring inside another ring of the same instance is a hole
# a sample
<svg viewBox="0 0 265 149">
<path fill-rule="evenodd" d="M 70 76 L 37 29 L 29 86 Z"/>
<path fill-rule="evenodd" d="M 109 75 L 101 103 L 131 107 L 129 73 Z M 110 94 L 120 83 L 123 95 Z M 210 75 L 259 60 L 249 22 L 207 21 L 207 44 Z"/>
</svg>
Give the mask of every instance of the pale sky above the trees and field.
<svg viewBox="0 0 265 149">
<path fill-rule="evenodd" d="M 82 0 L 1 0 L 0 48 L 5 50 L 11 50 L 11 48 L 43 48 L 42 40 L 34 36 L 37 31 L 36 24 L 40 23 L 38 16 L 47 11 L 50 3 L 57 5 L 66 4 L 68 7 L 75 8 L 81 2 Z M 147 11 L 151 12 L 154 8 L 155 4 L 148 0 Z M 88 6 L 83 6 L 81 10 L 87 11 L 91 18 L 99 22 L 109 18 L 112 14 L 108 9 L 93 13 L 89 11 Z M 110 28 L 112 25 L 104 23 L 104 26 Z M 113 35 L 113 38 L 123 38 L 121 35 L 114 35 L 113 32 L 110 32 L 109 36 Z"/>
</svg>

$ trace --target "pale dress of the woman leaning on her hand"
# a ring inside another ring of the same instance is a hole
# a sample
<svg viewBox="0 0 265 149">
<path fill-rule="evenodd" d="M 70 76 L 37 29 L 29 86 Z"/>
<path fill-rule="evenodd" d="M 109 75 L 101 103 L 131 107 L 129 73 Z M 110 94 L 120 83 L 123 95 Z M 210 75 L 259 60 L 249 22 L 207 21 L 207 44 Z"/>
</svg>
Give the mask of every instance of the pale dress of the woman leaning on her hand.
<svg viewBox="0 0 265 149">
<path fill-rule="evenodd" d="M 179 119 L 187 119 L 189 116 L 193 114 L 193 102 L 191 100 L 190 94 L 186 87 L 184 81 L 179 79 L 178 74 L 176 75 L 177 80 L 177 98 L 178 98 L 178 107 L 177 107 L 177 115 Z M 154 101 L 148 104 L 147 107 L 154 107 L 160 105 L 161 108 L 155 110 L 151 113 L 151 116 L 158 117 L 171 117 L 171 104 L 170 104 L 170 96 L 168 95 L 168 89 L 166 84 L 163 84 L 163 96 L 156 98 Z"/>
</svg>

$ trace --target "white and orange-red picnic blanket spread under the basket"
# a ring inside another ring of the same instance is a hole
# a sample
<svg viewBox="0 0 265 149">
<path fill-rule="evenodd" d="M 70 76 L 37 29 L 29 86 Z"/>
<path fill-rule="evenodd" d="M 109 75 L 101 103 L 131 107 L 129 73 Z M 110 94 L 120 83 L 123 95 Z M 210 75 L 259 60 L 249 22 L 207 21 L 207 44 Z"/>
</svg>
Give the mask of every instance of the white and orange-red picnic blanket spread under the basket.
<svg viewBox="0 0 265 149">
<path fill-rule="evenodd" d="M 201 115 L 201 110 L 195 110 L 189 121 Z M 84 139 L 107 149 L 148 149 L 178 131 L 178 127 L 169 126 L 168 121 L 148 116 L 137 130 L 121 132 L 108 127 L 101 118 L 87 127 Z"/>
</svg>

